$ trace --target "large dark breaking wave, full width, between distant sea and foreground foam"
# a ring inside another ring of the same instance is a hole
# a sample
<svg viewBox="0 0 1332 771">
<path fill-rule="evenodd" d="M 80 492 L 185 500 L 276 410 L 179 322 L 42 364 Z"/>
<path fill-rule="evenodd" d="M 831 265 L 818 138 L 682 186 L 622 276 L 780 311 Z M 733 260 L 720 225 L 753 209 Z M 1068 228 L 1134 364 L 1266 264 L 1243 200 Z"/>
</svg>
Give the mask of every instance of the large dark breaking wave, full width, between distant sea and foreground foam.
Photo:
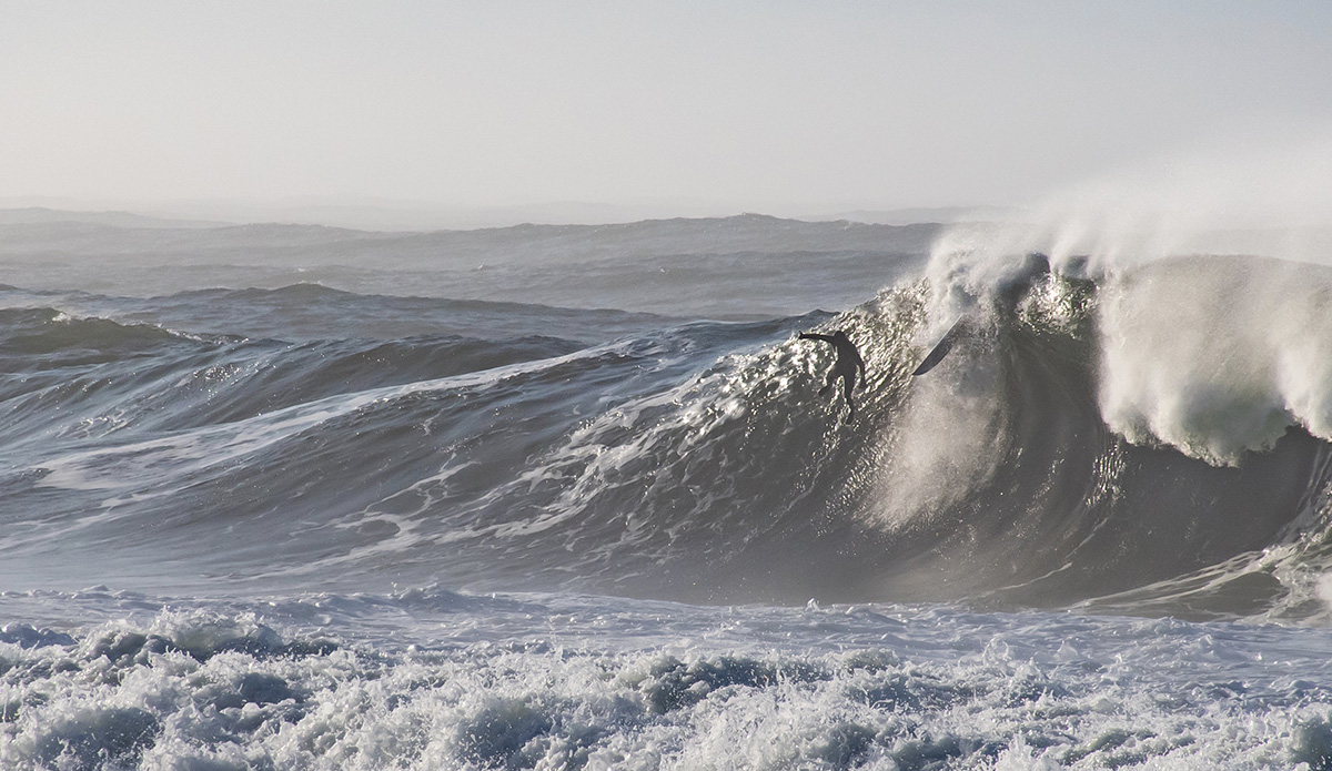
<svg viewBox="0 0 1332 771">
<path fill-rule="evenodd" d="M 915 378 L 951 321 L 924 278 L 729 322 L 7 288 L 0 587 L 1321 618 L 1332 273 L 996 276 Z M 860 346 L 854 421 L 809 329 Z"/>
</svg>

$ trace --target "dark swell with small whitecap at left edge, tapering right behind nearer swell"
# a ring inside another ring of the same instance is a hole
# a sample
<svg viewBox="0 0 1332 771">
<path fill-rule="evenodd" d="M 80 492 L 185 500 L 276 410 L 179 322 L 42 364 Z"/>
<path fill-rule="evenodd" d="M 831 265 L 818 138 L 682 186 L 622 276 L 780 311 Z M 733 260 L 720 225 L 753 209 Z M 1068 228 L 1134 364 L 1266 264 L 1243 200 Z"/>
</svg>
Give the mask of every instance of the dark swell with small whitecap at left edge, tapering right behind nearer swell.
<svg viewBox="0 0 1332 771">
<path fill-rule="evenodd" d="M 0 431 L 11 445 L 39 434 L 190 430 L 586 346 L 542 336 L 249 340 L 71 318 L 48 308 L 0 310 Z"/>
</svg>

